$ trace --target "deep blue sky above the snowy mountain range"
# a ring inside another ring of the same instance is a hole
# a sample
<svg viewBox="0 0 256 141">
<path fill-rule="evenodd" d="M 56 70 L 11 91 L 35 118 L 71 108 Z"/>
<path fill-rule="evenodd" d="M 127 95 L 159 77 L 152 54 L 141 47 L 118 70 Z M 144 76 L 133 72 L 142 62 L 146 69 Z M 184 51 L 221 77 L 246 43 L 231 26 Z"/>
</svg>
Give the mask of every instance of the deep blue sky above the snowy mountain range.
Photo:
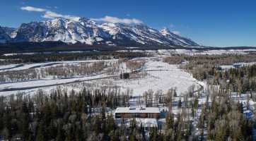
<svg viewBox="0 0 256 141">
<path fill-rule="evenodd" d="M 42 12 L 23 11 L 23 6 L 87 18 L 136 18 L 209 46 L 256 46 L 255 0 L 1 0 L 0 25 L 44 19 Z"/>
</svg>

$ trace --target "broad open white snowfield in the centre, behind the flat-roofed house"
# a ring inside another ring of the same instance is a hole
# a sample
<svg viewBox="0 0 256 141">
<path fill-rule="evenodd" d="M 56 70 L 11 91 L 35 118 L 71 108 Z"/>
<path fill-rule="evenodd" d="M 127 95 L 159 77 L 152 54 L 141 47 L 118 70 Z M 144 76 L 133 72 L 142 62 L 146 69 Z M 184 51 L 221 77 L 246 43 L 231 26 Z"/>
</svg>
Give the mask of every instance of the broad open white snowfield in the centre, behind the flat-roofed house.
<svg viewBox="0 0 256 141">
<path fill-rule="evenodd" d="M 142 95 L 147 90 L 167 92 L 170 88 L 177 88 L 177 92 L 182 93 L 187 92 L 191 85 L 195 85 L 196 89 L 200 87 L 197 80 L 192 78 L 192 75 L 176 65 L 170 65 L 162 61 L 149 59 L 143 71 L 147 73 L 145 78 L 115 80 L 113 83 L 120 86 L 122 90 L 132 89 L 134 96 Z"/>
</svg>

